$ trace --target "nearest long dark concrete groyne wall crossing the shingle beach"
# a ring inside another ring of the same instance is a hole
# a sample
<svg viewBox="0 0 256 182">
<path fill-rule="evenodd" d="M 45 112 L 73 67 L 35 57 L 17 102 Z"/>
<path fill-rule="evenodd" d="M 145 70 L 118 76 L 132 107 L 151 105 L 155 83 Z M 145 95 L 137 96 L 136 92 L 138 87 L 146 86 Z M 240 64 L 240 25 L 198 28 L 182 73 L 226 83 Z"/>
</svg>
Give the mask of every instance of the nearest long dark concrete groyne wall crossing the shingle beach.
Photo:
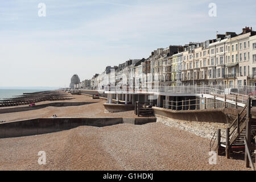
<svg viewBox="0 0 256 182">
<path fill-rule="evenodd" d="M 150 122 L 156 122 L 156 118 L 36 118 L 0 123 L 0 138 L 53 133 L 79 126 L 104 127 L 121 123 L 142 125 Z"/>
</svg>

